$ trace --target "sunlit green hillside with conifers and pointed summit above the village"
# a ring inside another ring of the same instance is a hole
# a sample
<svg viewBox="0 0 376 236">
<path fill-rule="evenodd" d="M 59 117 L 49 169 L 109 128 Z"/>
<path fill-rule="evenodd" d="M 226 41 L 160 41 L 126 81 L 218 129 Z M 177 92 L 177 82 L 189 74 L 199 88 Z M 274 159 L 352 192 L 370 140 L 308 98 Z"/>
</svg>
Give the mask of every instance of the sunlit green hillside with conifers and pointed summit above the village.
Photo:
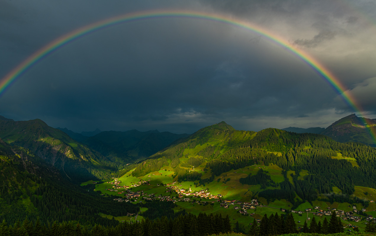
<svg viewBox="0 0 376 236">
<path fill-rule="evenodd" d="M 158 152 L 138 164 L 132 175 L 141 177 L 169 167 L 173 168 L 175 181 L 192 181 L 199 187 L 230 170 L 249 169 L 255 164 L 282 168 L 279 182 L 262 170 L 238 179 L 244 185 L 258 185 L 257 196 L 268 201 L 287 199 L 297 206 L 305 200 L 317 199 L 320 194 L 332 193 L 334 187 L 346 196 L 353 194 L 355 185 L 376 188 L 373 147 L 274 128 L 257 133 L 238 131 L 225 122 L 203 128 L 183 142 Z M 193 166 L 195 171 L 191 171 Z M 308 174 L 300 176 L 303 172 Z"/>
</svg>

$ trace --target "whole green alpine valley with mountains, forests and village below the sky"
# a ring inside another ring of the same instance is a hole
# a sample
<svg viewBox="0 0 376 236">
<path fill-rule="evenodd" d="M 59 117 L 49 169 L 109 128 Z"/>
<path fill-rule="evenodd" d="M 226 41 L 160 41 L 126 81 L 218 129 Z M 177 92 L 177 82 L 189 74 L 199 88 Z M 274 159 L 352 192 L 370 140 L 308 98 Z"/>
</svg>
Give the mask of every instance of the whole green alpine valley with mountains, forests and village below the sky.
<svg viewBox="0 0 376 236">
<path fill-rule="evenodd" d="M 374 126 L 362 120 L 188 135 L 0 117 L 0 235 L 373 232 Z"/>
</svg>

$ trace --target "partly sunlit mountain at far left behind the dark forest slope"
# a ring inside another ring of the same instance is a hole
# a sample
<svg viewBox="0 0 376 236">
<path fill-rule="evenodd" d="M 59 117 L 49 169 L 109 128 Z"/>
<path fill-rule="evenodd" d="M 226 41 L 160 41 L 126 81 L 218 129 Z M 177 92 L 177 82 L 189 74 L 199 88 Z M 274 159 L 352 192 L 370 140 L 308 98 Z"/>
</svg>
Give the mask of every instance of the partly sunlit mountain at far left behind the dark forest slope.
<svg viewBox="0 0 376 236">
<path fill-rule="evenodd" d="M 61 170 L 72 182 L 108 179 L 118 170 L 99 152 L 73 140 L 64 132 L 49 127 L 40 119 L 30 121 L 0 120 L 0 137 L 11 145 L 34 152 L 46 163 Z"/>
</svg>

